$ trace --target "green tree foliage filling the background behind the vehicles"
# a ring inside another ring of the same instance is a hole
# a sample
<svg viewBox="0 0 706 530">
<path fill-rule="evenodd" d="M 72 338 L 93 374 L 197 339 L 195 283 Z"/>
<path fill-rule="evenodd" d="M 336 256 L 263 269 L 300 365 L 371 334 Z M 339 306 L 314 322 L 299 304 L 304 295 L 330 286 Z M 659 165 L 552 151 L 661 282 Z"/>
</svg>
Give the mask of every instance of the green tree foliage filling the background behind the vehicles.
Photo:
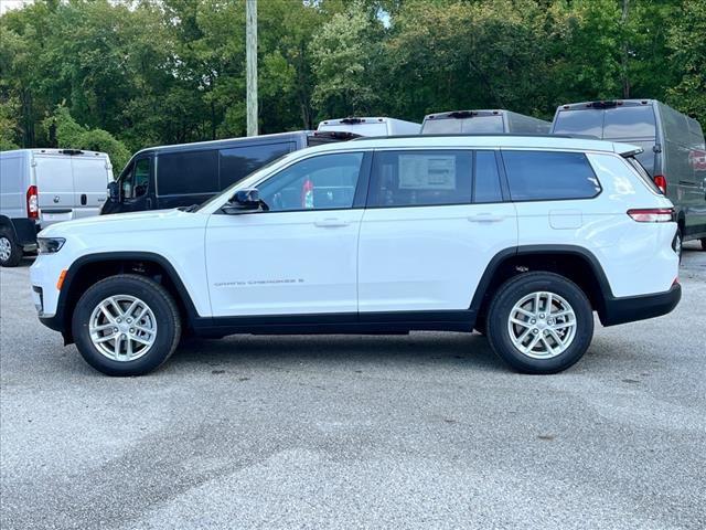
<svg viewBox="0 0 706 530">
<path fill-rule="evenodd" d="M 457 108 L 550 118 L 618 97 L 706 124 L 706 0 L 258 3 L 263 132 Z M 119 166 L 245 125 L 244 0 L 35 0 L 0 17 L 2 149 L 72 144 Z"/>
</svg>

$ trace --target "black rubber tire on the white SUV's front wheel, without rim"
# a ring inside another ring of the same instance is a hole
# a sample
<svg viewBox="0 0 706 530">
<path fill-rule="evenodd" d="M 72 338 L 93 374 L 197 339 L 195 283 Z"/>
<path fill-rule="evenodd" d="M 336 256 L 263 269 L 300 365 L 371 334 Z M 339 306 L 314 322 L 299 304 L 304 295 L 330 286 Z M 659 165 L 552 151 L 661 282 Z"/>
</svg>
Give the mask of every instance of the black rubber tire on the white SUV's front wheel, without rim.
<svg viewBox="0 0 706 530">
<path fill-rule="evenodd" d="M 117 361 L 104 356 L 93 343 L 88 325 L 94 309 L 110 296 L 127 295 L 142 300 L 154 314 L 154 343 L 142 357 Z M 72 316 L 72 331 L 84 360 L 106 375 L 143 375 L 157 369 L 174 352 L 181 338 L 179 309 L 172 296 L 157 282 L 143 276 L 120 274 L 89 287 L 81 297 Z"/>
</svg>

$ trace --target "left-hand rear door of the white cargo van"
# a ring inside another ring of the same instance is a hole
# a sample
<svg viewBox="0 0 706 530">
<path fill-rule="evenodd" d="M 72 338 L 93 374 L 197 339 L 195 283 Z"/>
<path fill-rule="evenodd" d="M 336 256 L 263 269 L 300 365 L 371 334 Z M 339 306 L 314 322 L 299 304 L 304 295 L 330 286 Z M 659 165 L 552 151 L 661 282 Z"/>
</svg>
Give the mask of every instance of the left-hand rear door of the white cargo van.
<svg viewBox="0 0 706 530">
<path fill-rule="evenodd" d="M 74 172 L 68 155 L 35 155 L 33 168 L 39 191 L 40 224 L 74 219 Z"/>
</svg>

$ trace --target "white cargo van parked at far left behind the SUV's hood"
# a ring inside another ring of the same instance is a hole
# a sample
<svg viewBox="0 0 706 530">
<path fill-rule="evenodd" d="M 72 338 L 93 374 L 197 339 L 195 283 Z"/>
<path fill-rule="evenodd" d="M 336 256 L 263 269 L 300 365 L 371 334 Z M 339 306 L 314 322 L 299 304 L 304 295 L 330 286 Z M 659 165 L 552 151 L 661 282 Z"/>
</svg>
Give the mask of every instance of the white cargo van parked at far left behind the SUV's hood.
<svg viewBox="0 0 706 530">
<path fill-rule="evenodd" d="M 36 250 L 52 223 L 98 215 L 113 167 L 105 152 L 18 149 L 0 152 L 0 265 Z"/>
</svg>

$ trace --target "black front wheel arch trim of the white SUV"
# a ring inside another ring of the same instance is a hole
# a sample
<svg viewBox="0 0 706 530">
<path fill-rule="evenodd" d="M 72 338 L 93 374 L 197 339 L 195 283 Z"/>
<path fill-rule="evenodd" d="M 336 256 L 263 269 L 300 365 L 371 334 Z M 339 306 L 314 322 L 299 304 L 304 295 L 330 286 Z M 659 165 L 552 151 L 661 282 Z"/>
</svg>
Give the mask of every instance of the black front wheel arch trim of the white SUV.
<svg viewBox="0 0 706 530">
<path fill-rule="evenodd" d="M 152 252 L 107 252 L 76 259 L 66 271 L 58 295 L 56 314 L 50 326 L 62 332 L 65 343 L 72 343 L 71 318 L 83 293 L 99 279 L 116 274 L 138 274 L 150 277 L 167 288 L 179 307 L 182 324 L 190 328 L 197 317 L 195 305 L 179 273 L 164 256 Z"/>
</svg>

